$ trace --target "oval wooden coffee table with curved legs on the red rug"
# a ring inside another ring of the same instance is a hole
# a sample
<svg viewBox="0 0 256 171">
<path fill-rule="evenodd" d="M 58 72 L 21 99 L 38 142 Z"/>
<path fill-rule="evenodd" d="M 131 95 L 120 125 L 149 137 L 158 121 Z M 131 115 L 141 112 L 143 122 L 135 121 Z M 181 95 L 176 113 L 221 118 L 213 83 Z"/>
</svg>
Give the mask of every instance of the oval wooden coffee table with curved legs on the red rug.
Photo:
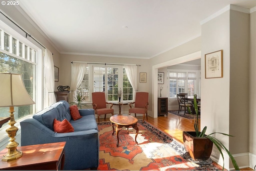
<svg viewBox="0 0 256 171">
<path fill-rule="evenodd" d="M 127 127 L 127 133 L 129 133 L 128 128 L 130 126 L 132 126 L 132 128 L 136 130 L 135 143 L 138 144 L 136 138 L 138 136 L 139 129 L 137 127 L 138 119 L 136 117 L 131 116 L 131 115 L 113 115 L 110 117 L 110 121 L 112 122 L 112 128 L 113 128 L 112 135 L 114 135 L 114 132 L 115 132 L 114 124 L 116 124 L 116 137 L 117 137 L 116 147 L 118 147 L 118 145 L 119 145 L 118 133 L 119 133 L 119 131 L 122 130 L 122 127 Z"/>
</svg>

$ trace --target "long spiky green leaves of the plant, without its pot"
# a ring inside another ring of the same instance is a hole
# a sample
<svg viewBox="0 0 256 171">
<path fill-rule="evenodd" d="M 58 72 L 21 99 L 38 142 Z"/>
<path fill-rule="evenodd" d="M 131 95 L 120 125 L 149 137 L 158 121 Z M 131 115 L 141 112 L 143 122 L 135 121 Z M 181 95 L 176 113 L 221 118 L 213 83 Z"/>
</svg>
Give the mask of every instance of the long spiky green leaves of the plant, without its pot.
<svg viewBox="0 0 256 171">
<path fill-rule="evenodd" d="M 236 160 L 234 159 L 233 155 L 230 153 L 230 151 L 228 151 L 228 149 L 215 137 L 211 136 L 215 133 L 220 133 L 220 132 L 214 132 L 214 133 L 211 133 L 209 135 L 205 135 L 204 133 L 206 132 L 206 129 L 207 129 L 207 126 L 204 127 L 204 129 L 202 130 L 202 132 L 199 131 L 199 125 L 198 125 L 198 107 L 197 107 L 197 101 L 196 101 L 196 96 L 194 95 L 194 109 L 195 109 L 195 115 L 193 115 L 191 113 L 191 110 L 190 108 L 188 107 L 188 112 L 193 116 L 194 118 L 194 128 L 195 128 L 195 131 L 196 131 L 196 137 L 206 137 L 208 139 L 210 139 L 212 141 L 212 143 L 214 143 L 214 145 L 217 147 L 217 149 L 220 151 L 220 154 L 222 156 L 222 159 L 223 159 L 223 167 L 222 167 L 222 170 L 224 170 L 224 156 L 223 156 L 223 153 L 222 153 L 222 149 L 224 149 L 224 151 L 226 151 L 228 153 L 228 156 L 230 157 L 231 161 L 232 161 L 232 164 L 235 168 L 235 170 L 240 170 L 237 163 L 236 163 Z M 226 136 L 229 136 L 229 137 L 234 137 L 232 135 L 228 135 L 226 133 L 220 133 L 222 135 L 226 135 Z"/>
</svg>

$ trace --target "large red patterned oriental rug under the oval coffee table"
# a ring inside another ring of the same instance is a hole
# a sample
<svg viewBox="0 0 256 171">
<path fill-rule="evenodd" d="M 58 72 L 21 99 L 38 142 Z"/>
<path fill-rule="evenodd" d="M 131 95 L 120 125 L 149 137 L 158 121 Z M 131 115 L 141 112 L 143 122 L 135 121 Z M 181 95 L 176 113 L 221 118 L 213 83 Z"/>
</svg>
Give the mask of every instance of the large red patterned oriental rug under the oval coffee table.
<svg viewBox="0 0 256 171">
<path fill-rule="evenodd" d="M 221 170 L 214 165 L 198 165 L 184 159 L 186 152 L 182 143 L 146 121 L 138 121 L 138 145 L 134 139 L 136 130 L 126 127 L 119 132 L 119 147 L 116 133 L 112 135 L 111 122 L 98 125 L 100 137 L 99 167 L 97 170 Z M 115 126 L 114 126 L 115 128 Z"/>
</svg>

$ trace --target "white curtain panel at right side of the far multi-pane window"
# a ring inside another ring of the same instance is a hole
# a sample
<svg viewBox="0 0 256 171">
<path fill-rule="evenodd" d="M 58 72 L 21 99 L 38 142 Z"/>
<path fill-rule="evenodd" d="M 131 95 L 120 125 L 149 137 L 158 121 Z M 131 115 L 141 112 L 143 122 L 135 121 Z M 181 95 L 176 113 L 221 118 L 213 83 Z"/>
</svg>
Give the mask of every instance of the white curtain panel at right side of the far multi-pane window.
<svg viewBox="0 0 256 171">
<path fill-rule="evenodd" d="M 125 65 L 124 69 L 130 84 L 132 85 L 133 95 L 132 99 L 135 100 L 136 92 L 138 91 L 138 66 L 136 65 Z"/>
</svg>

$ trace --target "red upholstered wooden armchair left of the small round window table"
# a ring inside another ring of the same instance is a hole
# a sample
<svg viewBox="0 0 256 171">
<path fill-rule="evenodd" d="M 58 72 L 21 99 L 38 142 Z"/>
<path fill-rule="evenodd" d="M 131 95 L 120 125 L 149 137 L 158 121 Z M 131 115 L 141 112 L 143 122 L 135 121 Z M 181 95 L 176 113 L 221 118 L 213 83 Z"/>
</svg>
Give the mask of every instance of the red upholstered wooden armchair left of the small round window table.
<svg viewBox="0 0 256 171">
<path fill-rule="evenodd" d="M 107 107 L 110 104 L 110 108 Z M 92 93 L 92 107 L 96 115 L 98 115 L 98 124 L 100 123 L 100 115 L 105 115 L 111 113 L 114 115 L 114 109 L 112 109 L 113 103 L 106 102 L 106 97 L 104 92 L 93 92 Z"/>
</svg>

